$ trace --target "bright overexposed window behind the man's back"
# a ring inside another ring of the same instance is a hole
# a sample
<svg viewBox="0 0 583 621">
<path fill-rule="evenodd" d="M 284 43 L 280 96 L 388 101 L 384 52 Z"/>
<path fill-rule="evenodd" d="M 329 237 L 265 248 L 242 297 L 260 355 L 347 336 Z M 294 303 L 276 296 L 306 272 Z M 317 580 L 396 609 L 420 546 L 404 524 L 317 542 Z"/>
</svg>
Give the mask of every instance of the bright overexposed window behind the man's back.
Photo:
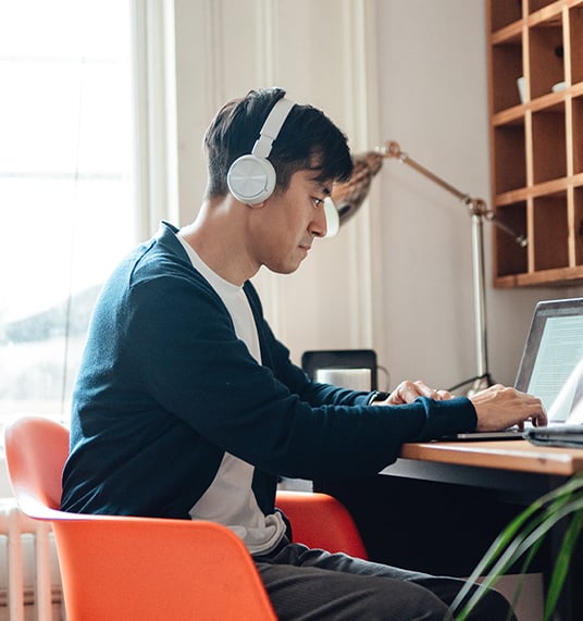
<svg viewBox="0 0 583 621">
<path fill-rule="evenodd" d="M 0 0 L 0 417 L 67 419 L 97 293 L 137 239 L 132 11 Z"/>
</svg>

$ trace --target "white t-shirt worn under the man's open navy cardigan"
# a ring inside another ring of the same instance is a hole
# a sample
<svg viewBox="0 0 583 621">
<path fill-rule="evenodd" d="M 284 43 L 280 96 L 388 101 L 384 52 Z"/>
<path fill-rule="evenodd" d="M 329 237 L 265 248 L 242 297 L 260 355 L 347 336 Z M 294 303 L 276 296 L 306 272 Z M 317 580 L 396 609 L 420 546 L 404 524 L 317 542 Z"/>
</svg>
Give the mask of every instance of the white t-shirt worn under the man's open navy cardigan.
<svg viewBox="0 0 583 621">
<path fill-rule="evenodd" d="M 257 326 L 243 287 L 221 278 L 179 235 L 177 237 L 195 269 L 211 284 L 228 309 L 237 337 L 261 364 Z M 245 542 L 251 554 L 261 554 L 280 543 L 285 533 L 285 522 L 278 512 L 264 516 L 259 508 L 251 488 L 253 471 L 250 463 L 225 452 L 216 476 L 190 509 L 190 517 L 193 520 L 209 520 L 227 526 Z"/>
</svg>

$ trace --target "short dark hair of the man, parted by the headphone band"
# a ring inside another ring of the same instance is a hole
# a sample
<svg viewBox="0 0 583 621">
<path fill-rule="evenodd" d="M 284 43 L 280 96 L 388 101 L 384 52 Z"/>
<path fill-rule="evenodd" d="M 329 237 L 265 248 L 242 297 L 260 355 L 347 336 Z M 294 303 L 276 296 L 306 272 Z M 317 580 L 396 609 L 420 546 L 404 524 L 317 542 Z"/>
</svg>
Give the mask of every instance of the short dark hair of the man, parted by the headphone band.
<svg viewBox="0 0 583 621">
<path fill-rule="evenodd" d="M 251 90 L 218 112 L 204 135 L 208 198 L 228 192 L 231 164 L 251 152 L 268 114 L 284 96 L 281 88 Z M 322 182 L 347 181 L 352 172 L 346 136 L 312 105 L 294 105 L 268 159 L 277 176 L 275 191 L 285 190 L 292 175 L 300 170 L 318 171 L 317 178 Z"/>
</svg>

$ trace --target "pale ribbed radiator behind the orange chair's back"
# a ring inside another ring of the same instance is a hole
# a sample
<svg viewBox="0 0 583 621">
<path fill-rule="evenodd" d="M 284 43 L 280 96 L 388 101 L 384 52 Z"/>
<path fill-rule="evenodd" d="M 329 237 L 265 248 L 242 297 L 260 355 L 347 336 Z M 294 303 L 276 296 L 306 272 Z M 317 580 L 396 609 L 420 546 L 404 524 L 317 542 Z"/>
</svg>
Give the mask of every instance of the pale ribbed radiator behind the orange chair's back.
<svg viewBox="0 0 583 621">
<path fill-rule="evenodd" d="M 64 620 L 50 524 L 0 499 L 0 621 Z"/>
</svg>

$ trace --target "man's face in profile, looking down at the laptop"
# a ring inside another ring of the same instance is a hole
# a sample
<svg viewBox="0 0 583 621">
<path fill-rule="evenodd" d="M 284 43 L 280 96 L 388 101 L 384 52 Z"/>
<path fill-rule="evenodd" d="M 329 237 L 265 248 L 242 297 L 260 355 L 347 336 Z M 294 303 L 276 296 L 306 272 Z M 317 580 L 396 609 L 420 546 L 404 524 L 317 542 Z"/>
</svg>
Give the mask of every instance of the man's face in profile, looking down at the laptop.
<svg viewBox="0 0 583 621">
<path fill-rule="evenodd" d="M 290 274 L 308 256 L 314 237 L 326 234 L 324 199 L 330 196 L 332 182 L 323 184 L 309 170 L 294 173 L 285 191 L 275 192 L 255 210 L 250 238 L 259 265 Z"/>
</svg>

